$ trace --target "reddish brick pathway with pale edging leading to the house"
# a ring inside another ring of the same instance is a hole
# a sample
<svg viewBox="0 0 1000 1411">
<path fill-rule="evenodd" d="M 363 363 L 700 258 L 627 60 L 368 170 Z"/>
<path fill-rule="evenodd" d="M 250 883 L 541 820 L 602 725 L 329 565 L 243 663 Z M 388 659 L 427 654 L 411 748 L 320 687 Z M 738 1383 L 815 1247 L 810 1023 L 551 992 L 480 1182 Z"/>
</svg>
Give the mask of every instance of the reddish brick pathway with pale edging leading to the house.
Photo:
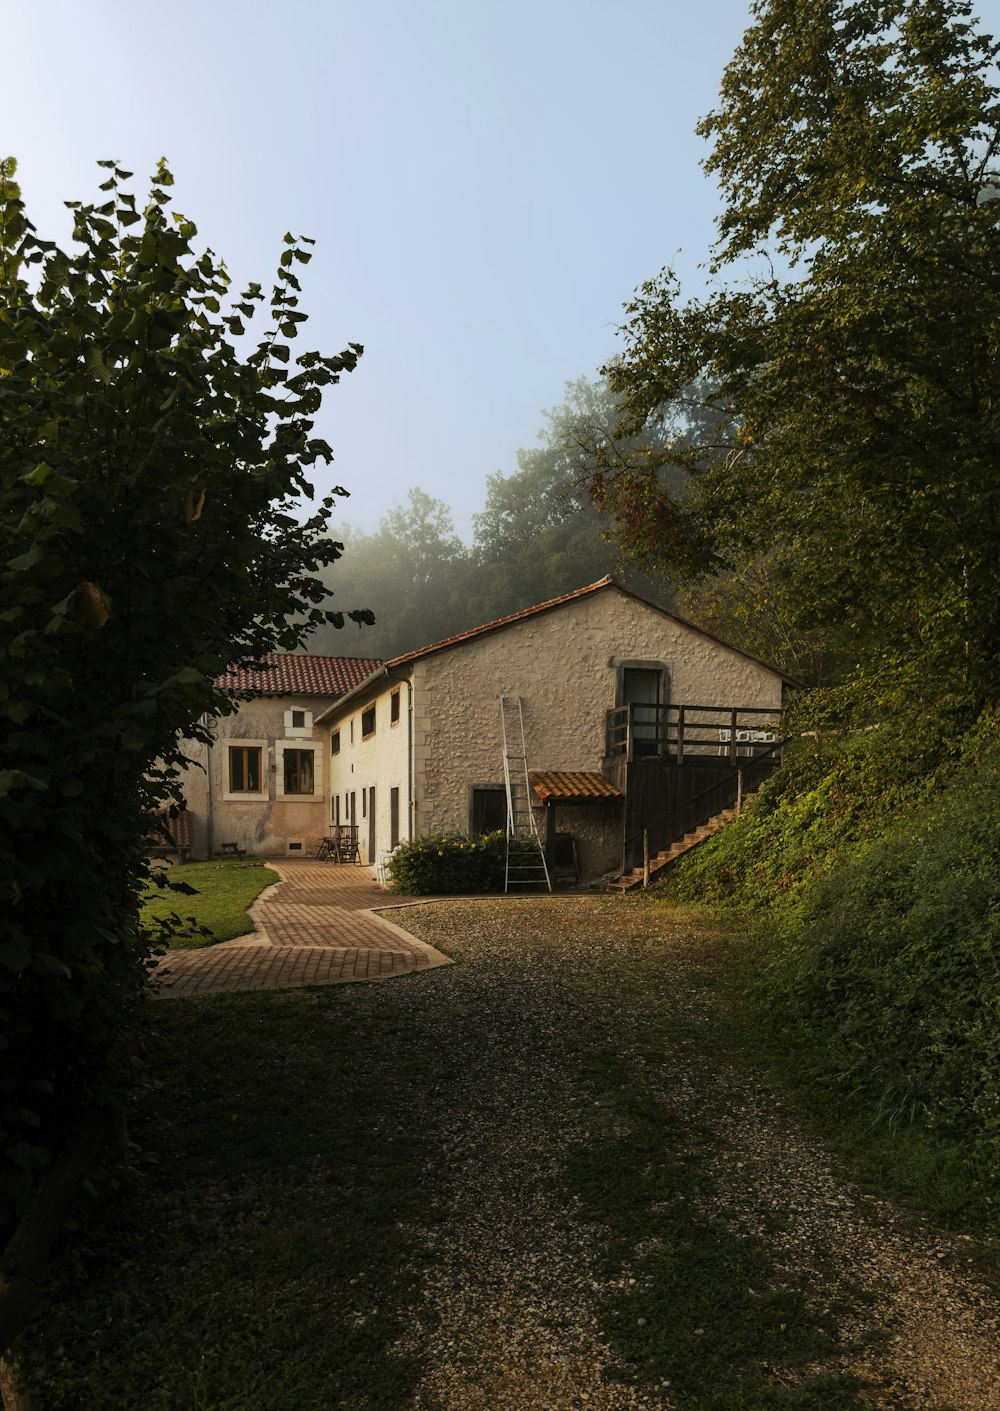
<svg viewBox="0 0 1000 1411">
<path fill-rule="evenodd" d="M 152 976 L 158 999 L 344 985 L 450 964 L 432 945 L 375 914 L 372 907 L 401 903 L 368 868 L 305 861 L 268 866 L 282 880 L 250 909 L 255 933 L 197 951 L 171 951 Z"/>
</svg>

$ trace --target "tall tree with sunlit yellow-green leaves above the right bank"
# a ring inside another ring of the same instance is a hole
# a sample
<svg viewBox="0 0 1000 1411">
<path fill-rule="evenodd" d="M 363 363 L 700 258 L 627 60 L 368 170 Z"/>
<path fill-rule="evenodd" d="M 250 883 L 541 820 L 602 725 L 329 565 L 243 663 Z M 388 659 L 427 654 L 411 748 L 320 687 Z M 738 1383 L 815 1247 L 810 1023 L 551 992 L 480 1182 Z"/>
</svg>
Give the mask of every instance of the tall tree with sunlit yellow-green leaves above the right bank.
<svg viewBox="0 0 1000 1411">
<path fill-rule="evenodd" d="M 614 492 L 647 507 L 653 553 L 767 555 L 800 624 L 904 655 L 929 694 L 994 696 L 994 40 L 966 0 L 759 0 L 700 131 L 731 282 L 687 303 L 666 271 L 643 285 L 608 375 L 626 430 L 698 380 L 708 420 L 663 450 L 681 495 L 632 467 Z"/>
</svg>

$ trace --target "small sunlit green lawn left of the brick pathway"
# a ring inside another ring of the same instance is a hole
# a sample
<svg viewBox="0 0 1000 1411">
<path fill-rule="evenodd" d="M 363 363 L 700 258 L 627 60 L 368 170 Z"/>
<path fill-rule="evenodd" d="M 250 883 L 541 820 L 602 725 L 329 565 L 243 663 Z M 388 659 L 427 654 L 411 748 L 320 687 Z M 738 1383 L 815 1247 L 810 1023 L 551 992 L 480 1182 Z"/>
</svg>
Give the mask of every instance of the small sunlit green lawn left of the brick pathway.
<svg viewBox="0 0 1000 1411">
<path fill-rule="evenodd" d="M 171 928 L 171 945 L 176 950 L 214 945 L 250 934 L 254 923 L 247 916 L 247 907 L 265 888 L 279 880 L 278 873 L 258 858 L 188 862 L 162 875 L 172 883 L 193 888 L 192 893 L 172 892 L 151 883 L 147 890 L 142 907 L 147 926 L 162 924 L 171 913 L 185 923 L 182 930 Z"/>
</svg>

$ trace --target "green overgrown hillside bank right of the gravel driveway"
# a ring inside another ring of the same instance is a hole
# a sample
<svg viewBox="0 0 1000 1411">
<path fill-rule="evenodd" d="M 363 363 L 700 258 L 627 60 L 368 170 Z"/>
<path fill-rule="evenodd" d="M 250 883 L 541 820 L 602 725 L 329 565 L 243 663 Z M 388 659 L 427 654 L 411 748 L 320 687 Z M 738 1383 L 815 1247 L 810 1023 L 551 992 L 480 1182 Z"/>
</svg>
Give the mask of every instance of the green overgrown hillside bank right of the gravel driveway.
<svg viewBox="0 0 1000 1411">
<path fill-rule="evenodd" d="M 750 916 L 748 991 L 814 1085 L 1000 1221 L 1000 718 L 801 738 L 674 895 Z"/>
</svg>

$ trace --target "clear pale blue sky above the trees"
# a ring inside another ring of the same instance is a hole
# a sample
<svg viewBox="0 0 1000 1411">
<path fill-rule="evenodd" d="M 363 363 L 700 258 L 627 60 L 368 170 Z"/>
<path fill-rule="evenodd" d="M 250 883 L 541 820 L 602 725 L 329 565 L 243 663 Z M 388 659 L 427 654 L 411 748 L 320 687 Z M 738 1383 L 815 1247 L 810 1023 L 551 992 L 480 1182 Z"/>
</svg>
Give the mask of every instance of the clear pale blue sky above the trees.
<svg viewBox="0 0 1000 1411">
<path fill-rule="evenodd" d="M 161 155 L 237 284 L 315 237 L 300 347 L 365 346 L 317 488 L 374 529 L 416 484 L 468 536 L 632 289 L 670 264 L 697 291 L 718 200 L 694 124 L 748 23 L 749 0 L 10 0 L 0 155 L 47 238 L 97 158 L 141 195 Z"/>
</svg>

